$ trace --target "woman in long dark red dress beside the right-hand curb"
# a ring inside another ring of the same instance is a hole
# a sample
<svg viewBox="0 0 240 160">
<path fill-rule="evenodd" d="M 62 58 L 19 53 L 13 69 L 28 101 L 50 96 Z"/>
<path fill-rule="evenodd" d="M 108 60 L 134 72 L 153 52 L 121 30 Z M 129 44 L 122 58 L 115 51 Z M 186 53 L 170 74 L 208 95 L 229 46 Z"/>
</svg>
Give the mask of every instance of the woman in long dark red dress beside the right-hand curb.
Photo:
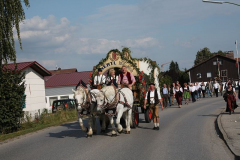
<svg viewBox="0 0 240 160">
<path fill-rule="evenodd" d="M 229 114 L 231 115 L 232 112 L 234 113 L 234 109 L 237 108 L 237 105 L 236 105 L 237 93 L 235 91 L 235 88 L 232 87 L 232 83 L 228 83 L 228 88 L 226 92 L 227 92 L 226 112 L 229 112 Z"/>
</svg>

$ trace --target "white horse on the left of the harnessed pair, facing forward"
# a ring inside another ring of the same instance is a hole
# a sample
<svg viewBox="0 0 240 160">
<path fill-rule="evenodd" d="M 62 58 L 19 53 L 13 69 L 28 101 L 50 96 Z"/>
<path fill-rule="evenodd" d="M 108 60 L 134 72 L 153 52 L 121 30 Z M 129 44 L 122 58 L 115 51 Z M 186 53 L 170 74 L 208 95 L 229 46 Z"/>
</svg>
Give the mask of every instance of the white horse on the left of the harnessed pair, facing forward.
<svg viewBox="0 0 240 160">
<path fill-rule="evenodd" d="M 93 89 L 90 92 L 82 86 L 78 86 L 76 90 L 72 90 L 77 104 L 78 121 L 82 131 L 87 132 L 87 137 L 92 137 L 97 132 L 96 116 L 99 116 L 101 123 L 101 132 L 105 132 L 107 126 L 105 123 L 105 115 L 97 114 L 96 95 L 100 92 Z M 84 113 L 85 112 L 85 113 Z M 83 124 L 83 117 L 88 117 L 88 128 Z M 93 125 L 93 127 L 92 127 Z"/>
</svg>

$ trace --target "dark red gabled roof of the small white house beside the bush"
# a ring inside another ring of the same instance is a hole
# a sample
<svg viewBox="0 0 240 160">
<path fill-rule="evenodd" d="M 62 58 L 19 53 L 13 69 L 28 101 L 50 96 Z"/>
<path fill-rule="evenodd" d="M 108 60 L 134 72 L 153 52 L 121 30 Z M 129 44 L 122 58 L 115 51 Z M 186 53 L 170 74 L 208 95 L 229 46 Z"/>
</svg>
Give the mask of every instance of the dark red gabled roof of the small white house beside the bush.
<svg viewBox="0 0 240 160">
<path fill-rule="evenodd" d="M 51 75 L 51 73 L 46 68 L 44 68 L 42 65 L 40 65 L 36 61 L 20 62 L 20 63 L 16 63 L 16 64 L 17 64 L 17 70 L 23 71 L 24 69 L 30 67 L 42 76 L 50 76 Z M 10 63 L 4 67 L 13 70 L 13 69 L 15 69 L 15 64 Z"/>
</svg>

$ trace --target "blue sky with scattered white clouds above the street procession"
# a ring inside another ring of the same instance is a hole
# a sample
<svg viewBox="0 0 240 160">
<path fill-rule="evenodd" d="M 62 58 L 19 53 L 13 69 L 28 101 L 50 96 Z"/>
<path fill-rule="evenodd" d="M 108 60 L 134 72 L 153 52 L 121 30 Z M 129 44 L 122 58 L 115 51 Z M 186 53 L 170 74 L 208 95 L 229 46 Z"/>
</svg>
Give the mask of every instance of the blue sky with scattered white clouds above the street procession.
<svg viewBox="0 0 240 160">
<path fill-rule="evenodd" d="M 17 61 L 36 60 L 47 69 L 92 70 L 122 46 L 133 57 L 159 65 L 173 60 L 183 69 L 201 48 L 236 53 L 240 42 L 240 7 L 202 0 L 30 0 L 25 14 Z"/>
</svg>

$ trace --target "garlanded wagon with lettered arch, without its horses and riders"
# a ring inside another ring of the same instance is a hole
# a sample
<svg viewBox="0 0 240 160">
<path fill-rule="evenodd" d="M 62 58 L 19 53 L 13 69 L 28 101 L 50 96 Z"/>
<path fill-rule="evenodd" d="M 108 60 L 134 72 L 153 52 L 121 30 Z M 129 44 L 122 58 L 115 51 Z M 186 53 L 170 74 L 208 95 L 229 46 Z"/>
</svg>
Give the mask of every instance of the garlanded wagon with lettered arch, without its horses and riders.
<svg viewBox="0 0 240 160">
<path fill-rule="evenodd" d="M 150 82 L 155 83 L 156 89 L 160 91 L 160 68 L 156 64 L 156 61 L 152 61 L 149 58 L 133 58 L 129 48 L 123 48 L 122 51 L 119 51 L 118 49 L 110 50 L 106 57 L 93 67 L 89 84 L 91 84 L 91 87 L 93 86 L 93 79 L 98 73 L 98 68 L 102 69 L 105 76 L 108 76 L 110 69 L 114 69 L 116 75 L 118 76 L 123 65 L 127 67 L 128 72 L 131 72 L 136 79 L 136 83 L 132 89 L 135 99 L 132 115 L 132 127 L 135 128 L 139 124 L 139 113 L 145 114 L 145 121 L 147 123 L 150 123 L 152 119 L 150 110 L 144 110 L 143 104 L 144 97 L 149 88 L 148 84 Z"/>
</svg>

